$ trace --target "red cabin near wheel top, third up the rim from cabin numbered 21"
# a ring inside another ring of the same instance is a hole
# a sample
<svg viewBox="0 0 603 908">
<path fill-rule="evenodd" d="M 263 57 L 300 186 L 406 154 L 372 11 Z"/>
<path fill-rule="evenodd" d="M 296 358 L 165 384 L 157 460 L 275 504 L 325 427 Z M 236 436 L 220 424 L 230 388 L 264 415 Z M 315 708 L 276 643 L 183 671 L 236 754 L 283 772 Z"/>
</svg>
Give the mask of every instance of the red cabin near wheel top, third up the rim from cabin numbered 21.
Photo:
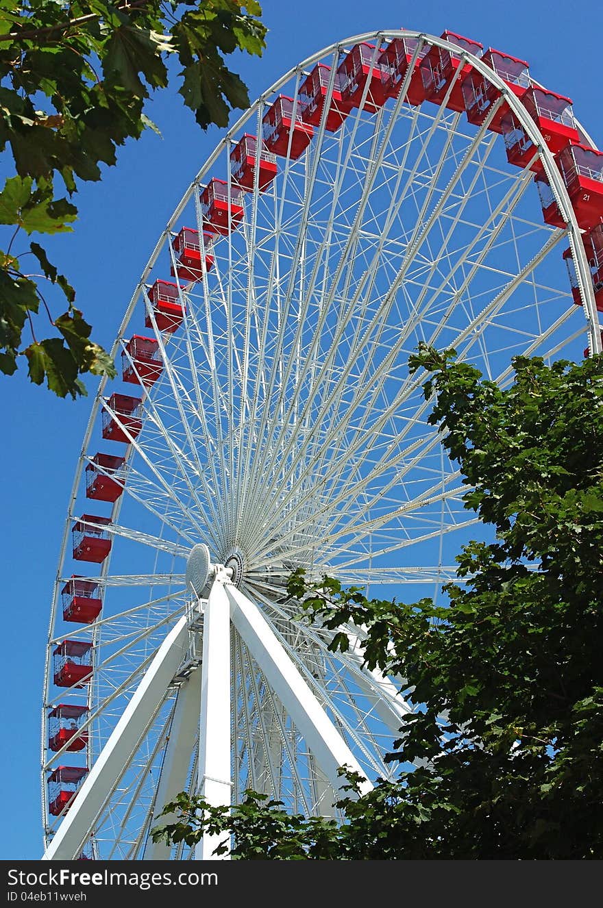
<svg viewBox="0 0 603 908">
<path fill-rule="evenodd" d="M 484 45 L 449 31 L 442 32 L 440 37 L 450 48 L 434 45 L 420 62 L 425 100 L 433 104 L 443 104 L 446 100 L 448 110 L 460 113 L 465 110 L 462 84 L 472 69 L 470 63 L 461 62 L 460 51 L 480 56 Z"/>
</svg>

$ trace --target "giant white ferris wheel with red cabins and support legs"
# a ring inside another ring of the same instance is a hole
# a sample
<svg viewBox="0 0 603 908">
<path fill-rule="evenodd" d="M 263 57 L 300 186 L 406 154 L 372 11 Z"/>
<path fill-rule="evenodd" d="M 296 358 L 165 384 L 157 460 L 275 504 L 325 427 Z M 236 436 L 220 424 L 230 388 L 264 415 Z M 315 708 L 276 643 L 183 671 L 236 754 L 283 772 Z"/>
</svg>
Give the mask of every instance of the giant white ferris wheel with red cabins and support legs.
<svg viewBox="0 0 603 908">
<path fill-rule="evenodd" d="M 390 777 L 412 679 L 287 596 L 294 568 L 441 595 L 483 531 L 428 424 L 419 341 L 504 385 L 601 349 L 603 153 L 528 64 L 358 35 L 227 133 L 147 263 L 85 432 L 44 676 L 44 859 L 153 844 L 178 792 L 337 815 Z M 588 348 L 588 350 L 586 350 Z"/>
</svg>

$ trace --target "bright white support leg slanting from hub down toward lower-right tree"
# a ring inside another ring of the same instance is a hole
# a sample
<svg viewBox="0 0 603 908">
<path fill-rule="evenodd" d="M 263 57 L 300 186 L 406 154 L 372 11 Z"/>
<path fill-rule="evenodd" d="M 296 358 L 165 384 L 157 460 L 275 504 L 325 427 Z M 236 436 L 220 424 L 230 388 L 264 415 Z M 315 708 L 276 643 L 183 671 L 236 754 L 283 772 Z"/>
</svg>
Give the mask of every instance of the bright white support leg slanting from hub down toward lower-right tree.
<svg viewBox="0 0 603 908">
<path fill-rule="evenodd" d="M 225 589 L 231 603 L 232 624 L 262 668 L 268 684 L 292 717 L 335 792 L 345 784 L 345 780 L 337 774 L 340 766 L 347 765 L 354 772 L 365 775 L 335 725 L 273 634 L 260 609 L 236 587 L 227 586 Z M 366 779 L 361 790 L 364 793 L 371 787 L 371 783 Z"/>
</svg>

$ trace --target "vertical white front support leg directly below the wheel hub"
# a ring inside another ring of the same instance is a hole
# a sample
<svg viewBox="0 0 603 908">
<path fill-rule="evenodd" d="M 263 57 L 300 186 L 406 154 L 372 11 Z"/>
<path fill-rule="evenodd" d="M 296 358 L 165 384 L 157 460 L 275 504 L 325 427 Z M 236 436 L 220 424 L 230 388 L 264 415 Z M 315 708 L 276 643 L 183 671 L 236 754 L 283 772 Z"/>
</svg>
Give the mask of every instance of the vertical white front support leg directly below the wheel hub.
<svg viewBox="0 0 603 908">
<path fill-rule="evenodd" d="M 197 794 L 213 806 L 231 805 L 231 619 L 230 603 L 216 578 L 203 613 L 203 664 Z M 195 858 L 215 861 L 223 835 L 204 834 Z"/>
</svg>

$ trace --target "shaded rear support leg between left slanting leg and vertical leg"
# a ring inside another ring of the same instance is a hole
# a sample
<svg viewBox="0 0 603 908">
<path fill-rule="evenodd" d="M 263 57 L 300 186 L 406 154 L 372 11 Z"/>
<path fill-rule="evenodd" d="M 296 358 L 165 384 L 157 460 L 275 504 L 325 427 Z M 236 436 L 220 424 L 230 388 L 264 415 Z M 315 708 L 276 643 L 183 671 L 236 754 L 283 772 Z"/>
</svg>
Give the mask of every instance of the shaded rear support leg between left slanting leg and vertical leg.
<svg viewBox="0 0 603 908">
<path fill-rule="evenodd" d="M 149 826 L 172 823 L 175 815 L 166 814 L 159 819 L 165 804 L 173 801 L 179 792 L 186 787 L 186 776 L 189 772 L 191 754 L 199 725 L 199 704 L 201 703 L 201 669 L 197 668 L 178 690 L 178 699 L 173 714 L 170 740 L 165 749 L 162 772 L 157 785 L 157 796 L 153 818 Z M 167 861 L 170 858 L 172 845 L 153 842 L 149 836 L 144 847 L 144 861 Z"/>
</svg>

